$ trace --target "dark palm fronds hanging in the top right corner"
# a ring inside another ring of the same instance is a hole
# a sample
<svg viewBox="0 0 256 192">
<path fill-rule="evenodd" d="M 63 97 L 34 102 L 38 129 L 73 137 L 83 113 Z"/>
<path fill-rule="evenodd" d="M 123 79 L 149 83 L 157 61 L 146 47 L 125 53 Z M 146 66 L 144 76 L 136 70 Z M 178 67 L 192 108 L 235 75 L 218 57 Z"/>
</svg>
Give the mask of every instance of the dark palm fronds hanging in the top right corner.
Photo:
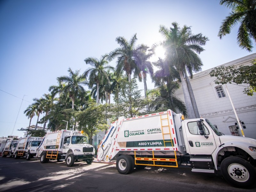
<svg viewBox="0 0 256 192">
<path fill-rule="evenodd" d="M 256 41 L 256 1 L 255 0 L 220 0 L 220 5 L 227 6 L 232 12 L 221 23 L 218 36 L 220 39 L 229 34 L 240 23 L 237 43 L 242 49 L 252 51 L 252 41 Z"/>
</svg>

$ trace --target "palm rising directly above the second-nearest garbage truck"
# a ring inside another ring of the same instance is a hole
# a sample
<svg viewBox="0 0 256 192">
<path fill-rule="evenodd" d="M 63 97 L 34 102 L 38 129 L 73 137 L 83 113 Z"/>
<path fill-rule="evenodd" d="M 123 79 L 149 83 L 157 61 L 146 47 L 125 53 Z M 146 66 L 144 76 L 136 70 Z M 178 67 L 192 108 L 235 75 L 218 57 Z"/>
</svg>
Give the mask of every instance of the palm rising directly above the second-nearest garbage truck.
<svg viewBox="0 0 256 192">
<path fill-rule="evenodd" d="M 83 75 L 79 75 L 80 70 L 75 72 L 68 68 L 69 76 L 60 76 L 57 78 L 59 82 L 66 83 L 60 90 L 62 93 L 68 93 L 72 99 L 72 109 L 74 109 L 75 99 L 79 91 L 84 91 L 84 85 L 87 84 Z"/>
</svg>

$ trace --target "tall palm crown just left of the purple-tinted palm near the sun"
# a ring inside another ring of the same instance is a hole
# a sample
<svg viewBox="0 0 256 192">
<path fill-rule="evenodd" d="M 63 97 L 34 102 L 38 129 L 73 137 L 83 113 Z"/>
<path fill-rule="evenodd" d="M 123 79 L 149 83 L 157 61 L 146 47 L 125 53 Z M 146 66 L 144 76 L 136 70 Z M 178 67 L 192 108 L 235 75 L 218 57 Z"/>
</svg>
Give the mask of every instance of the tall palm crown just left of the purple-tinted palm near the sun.
<svg viewBox="0 0 256 192">
<path fill-rule="evenodd" d="M 135 47 L 136 41 L 136 34 L 132 36 L 129 42 L 124 37 L 116 37 L 116 42 L 120 45 L 120 47 L 110 52 L 108 56 L 110 61 L 117 57 L 116 71 L 119 74 L 125 71 L 129 82 L 131 82 L 132 71 L 137 67 L 134 61 L 134 54 L 135 52 L 146 48 L 146 46 L 143 44 Z"/>
</svg>

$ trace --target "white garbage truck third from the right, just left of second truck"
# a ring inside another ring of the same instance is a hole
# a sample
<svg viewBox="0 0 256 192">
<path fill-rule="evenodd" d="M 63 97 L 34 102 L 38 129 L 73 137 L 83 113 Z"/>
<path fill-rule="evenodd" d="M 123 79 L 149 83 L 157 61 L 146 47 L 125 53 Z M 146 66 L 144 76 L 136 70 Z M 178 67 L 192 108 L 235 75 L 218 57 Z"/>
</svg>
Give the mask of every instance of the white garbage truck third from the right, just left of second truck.
<svg viewBox="0 0 256 192">
<path fill-rule="evenodd" d="M 20 157 L 26 157 L 29 160 L 32 157 L 36 156 L 36 151 L 39 145 L 41 144 L 43 137 L 24 137 L 20 138 L 17 143 L 16 148 L 13 151 L 15 159 Z"/>
</svg>

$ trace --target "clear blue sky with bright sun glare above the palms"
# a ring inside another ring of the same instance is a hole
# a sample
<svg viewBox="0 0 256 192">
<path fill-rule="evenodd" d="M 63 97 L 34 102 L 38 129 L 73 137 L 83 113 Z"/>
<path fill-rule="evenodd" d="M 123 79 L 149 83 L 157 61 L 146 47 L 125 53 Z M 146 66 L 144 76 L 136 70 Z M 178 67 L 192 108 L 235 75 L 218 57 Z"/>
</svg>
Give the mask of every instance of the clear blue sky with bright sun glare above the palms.
<svg viewBox="0 0 256 192">
<path fill-rule="evenodd" d="M 237 27 L 223 39 L 217 37 L 229 12 L 219 0 L 2 0 L 0 137 L 23 136 L 17 129 L 28 126 L 23 112 L 33 98 L 48 93 L 57 77 L 68 75 L 69 67 L 82 74 L 89 67 L 84 59 L 117 48 L 117 36 L 130 39 L 137 33 L 137 44 L 150 47 L 163 40 L 159 25 L 169 28 L 175 21 L 180 27 L 191 26 L 193 33 L 210 39 L 199 55 L 203 70 L 255 53 L 255 48 L 250 53 L 238 47 Z M 115 60 L 110 64 L 116 66 Z M 150 79 L 148 88 L 154 88 Z"/>
</svg>

